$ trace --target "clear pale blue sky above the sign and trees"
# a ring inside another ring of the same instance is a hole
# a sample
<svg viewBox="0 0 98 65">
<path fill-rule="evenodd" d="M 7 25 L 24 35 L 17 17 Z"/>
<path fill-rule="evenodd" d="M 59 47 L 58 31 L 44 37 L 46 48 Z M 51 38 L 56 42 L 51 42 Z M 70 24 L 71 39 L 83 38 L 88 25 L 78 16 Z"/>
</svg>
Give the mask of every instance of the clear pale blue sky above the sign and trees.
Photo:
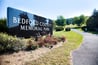
<svg viewBox="0 0 98 65">
<path fill-rule="evenodd" d="M 7 17 L 7 7 L 50 19 L 60 15 L 71 18 L 91 16 L 94 9 L 98 10 L 98 0 L 0 0 L 0 18 Z"/>
</svg>

